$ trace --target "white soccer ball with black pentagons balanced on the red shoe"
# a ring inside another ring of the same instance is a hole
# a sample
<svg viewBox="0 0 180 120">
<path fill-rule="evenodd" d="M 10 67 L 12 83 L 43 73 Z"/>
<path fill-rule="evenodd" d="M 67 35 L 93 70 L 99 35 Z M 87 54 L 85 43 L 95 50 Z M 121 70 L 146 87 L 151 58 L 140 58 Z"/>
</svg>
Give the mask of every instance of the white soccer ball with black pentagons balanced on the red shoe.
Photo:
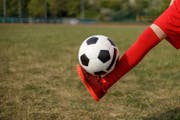
<svg viewBox="0 0 180 120">
<path fill-rule="evenodd" d="M 105 76 L 115 68 L 119 50 L 107 36 L 93 35 L 81 44 L 78 58 L 80 65 L 88 73 Z"/>
</svg>

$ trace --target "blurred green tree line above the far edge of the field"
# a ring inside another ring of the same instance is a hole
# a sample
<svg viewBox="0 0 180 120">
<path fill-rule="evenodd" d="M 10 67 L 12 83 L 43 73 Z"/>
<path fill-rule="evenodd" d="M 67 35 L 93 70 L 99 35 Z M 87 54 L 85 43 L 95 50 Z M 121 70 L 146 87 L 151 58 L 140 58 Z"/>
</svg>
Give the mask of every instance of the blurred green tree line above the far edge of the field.
<svg viewBox="0 0 180 120">
<path fill-rule="evenodd" d="M 170 0 L 0 0 L 1 17 L 88 18 L 102 21 L 155 18 Z"/>
</svg>

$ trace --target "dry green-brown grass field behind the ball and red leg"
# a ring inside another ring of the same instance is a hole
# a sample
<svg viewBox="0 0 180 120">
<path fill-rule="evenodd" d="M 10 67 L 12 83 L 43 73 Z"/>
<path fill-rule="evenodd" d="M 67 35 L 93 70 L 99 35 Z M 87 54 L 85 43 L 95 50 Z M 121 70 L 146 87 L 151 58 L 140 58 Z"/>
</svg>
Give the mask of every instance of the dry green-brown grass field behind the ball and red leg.
<svg viewBox="0 0 180 120">
<path fill-rule="evenodd" d="M 180 120 L 180 53 L 167 41 L 95 102 L 75 66 L 81 42 L 104 34 L 120 54 L 143 25 L 0 25 L 0 120 Z"/>
</svg>

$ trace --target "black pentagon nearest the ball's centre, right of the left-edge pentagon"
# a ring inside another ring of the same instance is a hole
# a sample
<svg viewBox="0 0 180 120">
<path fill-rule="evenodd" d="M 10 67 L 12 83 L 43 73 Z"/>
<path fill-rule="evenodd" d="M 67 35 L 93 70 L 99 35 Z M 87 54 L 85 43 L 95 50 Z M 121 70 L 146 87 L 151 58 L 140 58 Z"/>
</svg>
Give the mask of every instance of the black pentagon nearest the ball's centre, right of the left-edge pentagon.
<svg viewBox="0 0 180 120">
<path fill-rule="evenodd" d="M 101 60 L 103 63 L 106 63 L 108 60 L 111 59 L 109 51 L 108 50 L 100 50 L 98 59 Z"/>
</svg>

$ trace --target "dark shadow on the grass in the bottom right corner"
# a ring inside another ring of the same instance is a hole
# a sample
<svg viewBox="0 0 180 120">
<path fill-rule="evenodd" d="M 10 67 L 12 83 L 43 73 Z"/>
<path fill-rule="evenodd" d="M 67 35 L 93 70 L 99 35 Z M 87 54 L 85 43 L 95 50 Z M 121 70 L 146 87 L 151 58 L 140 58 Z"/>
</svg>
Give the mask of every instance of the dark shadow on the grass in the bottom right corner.
<svg viewBox="0 0 180 120">
<path fill-rule="evenodd" d="M 180 120 L 180 107 L 166 111 L 164 113 L 157 113 L 154 116 L 144 118 L 143 120 Z"/>
</svg>

